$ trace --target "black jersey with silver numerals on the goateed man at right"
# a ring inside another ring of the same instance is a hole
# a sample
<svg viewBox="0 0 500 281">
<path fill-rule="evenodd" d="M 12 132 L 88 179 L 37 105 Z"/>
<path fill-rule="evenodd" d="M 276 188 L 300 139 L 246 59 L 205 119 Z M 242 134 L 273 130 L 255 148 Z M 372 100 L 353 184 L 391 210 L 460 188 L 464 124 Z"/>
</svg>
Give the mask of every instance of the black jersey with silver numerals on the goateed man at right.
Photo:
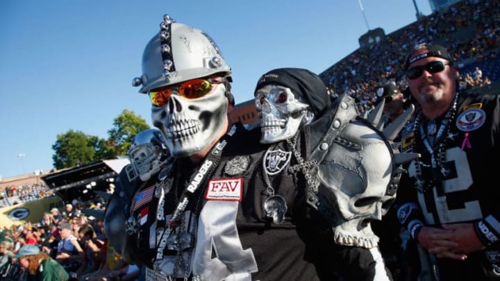
<svg viewBox="0 0 500 281">
<path fill-rule="evenodd" d="M 419 114 L 402 132 L 403 151 L 422 157 L 410 163 L 408 174 L 401 179 L 398 219 L 412 235 L 422 223 L 435 227 L 474 223 L 487 246 L 476 262 L 481 259 L 479 264 L 497 266 L 500 189 L 495 182 L 500 157 L 500 96 L 458 95 L 456 106 L 451 108 L 435 123 Z M 474 261 L 475 256 L 469 255 L 467 260 Z M 453 271 L 459 272 L 460 264 L 453 266 Z M 462 269 L 467 270 L 467 266 Z M 478 278 L 483 275 L 478 271 L 474 274 Z"/>
</svg>

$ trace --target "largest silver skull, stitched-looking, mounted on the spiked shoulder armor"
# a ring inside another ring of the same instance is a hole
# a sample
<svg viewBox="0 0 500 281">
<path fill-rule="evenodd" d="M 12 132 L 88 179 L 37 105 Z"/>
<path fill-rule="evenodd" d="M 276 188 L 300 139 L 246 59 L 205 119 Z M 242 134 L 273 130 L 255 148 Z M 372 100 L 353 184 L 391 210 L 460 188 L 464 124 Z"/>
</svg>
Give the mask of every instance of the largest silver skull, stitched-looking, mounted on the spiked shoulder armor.
<svg viewBox="0 0 500 281">
<path fill-rule="evenodd" d="M 381 220 L 396 197 L 392 153 L 382 135 L 356 120 L 344 128 L 319 165 L 318 196 L 335 218 L 335 242 L 372 248 L 378 237 L 370 221 Z"/>
</svg>

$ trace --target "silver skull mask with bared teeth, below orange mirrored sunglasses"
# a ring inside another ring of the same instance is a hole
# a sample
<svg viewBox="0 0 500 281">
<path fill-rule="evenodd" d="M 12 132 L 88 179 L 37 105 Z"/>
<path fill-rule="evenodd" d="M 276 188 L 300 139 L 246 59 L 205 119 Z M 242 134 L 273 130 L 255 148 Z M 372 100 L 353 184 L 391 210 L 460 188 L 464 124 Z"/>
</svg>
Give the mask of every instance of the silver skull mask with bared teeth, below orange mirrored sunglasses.
<svg viewBox="0 0 500 281">
<path fill-rule="evenodd" d="M 151 108 L 153 125 L 164 133 L 174 157 L 202 151 L 226 128 L 225 92 L 223 83 L 213 84 L 213 90 L 199 99 L 185 99 L 174 90 L 167 105 Z"/>
</svg>

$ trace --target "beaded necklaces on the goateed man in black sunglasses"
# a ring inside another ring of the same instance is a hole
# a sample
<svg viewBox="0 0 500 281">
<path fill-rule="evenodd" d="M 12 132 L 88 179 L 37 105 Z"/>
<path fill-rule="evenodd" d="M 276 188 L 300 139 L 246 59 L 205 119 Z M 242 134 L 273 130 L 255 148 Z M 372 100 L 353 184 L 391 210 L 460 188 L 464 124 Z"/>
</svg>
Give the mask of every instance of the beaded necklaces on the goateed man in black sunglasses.
<svg viewBox="0 0 500 281">
<path fill-rule="evenodd" d="M 422 126 L 422 110 L 417 114 L 417 117 L 415 117 L 415 123 L 413 124 L 413 135 L 415 135 L 415 139 L 417 139 L 418 134 L 420 134 L 422 143 L 424 144 L 428 153 L 431 154 L 431 164 L 424 164 L 424 162 L 420 160 L 415 161 L 415 177 L 417 178 L 415 184 L 417 185 L 417 191 L 419 191 L 420 193 L 425 193 L 429 189 L 433 189 L 441 176 L 447 176 L 450 172 L 449 169 L 447 169 L 447 167 L 444 165 L 444 156 L 446 151 L 445 146 L 449 139 L 453 139 L 453 134 L 450 134 L 449 129 L 450 123 L 455 118 L 457 112 L 457 103 L 458 92 L 455 94 L 451 106 L 441 122 L 439 130 L 437 130 L 437 135 L 435 135 L 435 141 L 433 144 L 429 142 L 426 130 L 424 130 L 424 126 Z M 415 142 L 413 142 L 412 144 L 412 151 L 414 150 Z M 432 178 L 424 178 L 422 174 L 422 166 L 432 168 Z"/>
</svg>

